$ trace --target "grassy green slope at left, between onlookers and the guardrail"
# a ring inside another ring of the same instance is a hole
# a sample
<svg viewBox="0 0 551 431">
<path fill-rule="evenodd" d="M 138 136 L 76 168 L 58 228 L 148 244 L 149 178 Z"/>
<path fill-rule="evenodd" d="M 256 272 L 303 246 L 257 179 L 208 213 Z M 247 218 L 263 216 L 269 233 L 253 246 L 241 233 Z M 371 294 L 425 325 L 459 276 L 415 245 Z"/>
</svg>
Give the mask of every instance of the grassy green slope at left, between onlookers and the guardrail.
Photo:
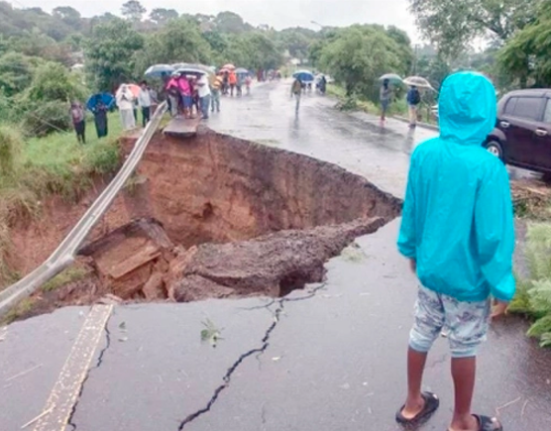
<svg viewBox="0 0 551 431">
<path fill-rule="evenodd" d="M 86 129 L 87 142 L 82 145 L 74 132 L 24 139 L 15 126 L 0 126 L 0 287 L 18 277 L 6 263 L 10 227 L 38 217 L 41 200 L 51 194 L 76 201 L 94 177 L 120 166 L 118 114 L 109 114 L 108 138 L 97 138 L 92 121 Z"/>
</svg>

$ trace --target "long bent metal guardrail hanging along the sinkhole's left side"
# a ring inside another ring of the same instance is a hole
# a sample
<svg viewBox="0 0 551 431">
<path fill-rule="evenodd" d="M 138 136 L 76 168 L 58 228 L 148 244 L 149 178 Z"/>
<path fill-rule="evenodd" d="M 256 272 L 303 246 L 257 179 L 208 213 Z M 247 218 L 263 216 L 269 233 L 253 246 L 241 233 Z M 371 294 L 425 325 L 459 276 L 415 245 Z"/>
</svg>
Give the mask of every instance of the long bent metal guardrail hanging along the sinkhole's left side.
<svg viewBox="0 0 551 431">
<path fill-rule="evenodd" d="M 107 212 L 119 191 L 140 163 L 143 153 L 157 131 L 166 110 L 166 102 L 161 103 L 157 107 L 151 121 L 143 130 L 132 152 L 115 178 L 113 178 L 107 188 L 88 208 L 88 211 L 86 211 L 51 256 L 33 272 L 0 292 L 0 317 L 4 316 L 15 304 L 31 295 L 42 284 L 55 277 L 74 262 L 78 249 L 92 228 Z"/>
</svg>

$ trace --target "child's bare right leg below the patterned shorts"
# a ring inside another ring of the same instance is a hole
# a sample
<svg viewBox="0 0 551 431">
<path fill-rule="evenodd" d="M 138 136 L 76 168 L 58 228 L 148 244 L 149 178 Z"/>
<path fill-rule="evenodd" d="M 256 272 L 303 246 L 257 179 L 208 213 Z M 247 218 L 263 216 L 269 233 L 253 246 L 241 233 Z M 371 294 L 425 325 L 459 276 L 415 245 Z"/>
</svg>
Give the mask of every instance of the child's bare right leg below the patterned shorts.
<svg viewBox="0 0 551 431">
<path fill-rule="evenodd" d="M 471 414 L 475 376 L 476 357 L 452 359 L 455 408 L 450 429 L 453 431 L 478 429 L 478 422 Z"/>
</svg>

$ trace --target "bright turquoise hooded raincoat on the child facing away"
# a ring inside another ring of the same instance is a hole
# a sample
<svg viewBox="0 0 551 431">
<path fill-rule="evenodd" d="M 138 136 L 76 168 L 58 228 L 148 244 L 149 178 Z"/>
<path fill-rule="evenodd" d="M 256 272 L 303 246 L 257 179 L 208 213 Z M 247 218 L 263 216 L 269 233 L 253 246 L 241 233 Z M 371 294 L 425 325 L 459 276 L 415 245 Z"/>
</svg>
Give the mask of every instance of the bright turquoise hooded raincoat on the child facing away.
<svg viewBox="0 0 551 431">
<path fill-rule="evenodd" d="M 425 287 L 460 301 L 510 301 L 515 293 L 509 177 L 482 145 L 496 111 L 485 76 L 449 76 L 440 92 L 440 136 L 411 157 L 398 248 L 416 261 Z"/>
</svg>

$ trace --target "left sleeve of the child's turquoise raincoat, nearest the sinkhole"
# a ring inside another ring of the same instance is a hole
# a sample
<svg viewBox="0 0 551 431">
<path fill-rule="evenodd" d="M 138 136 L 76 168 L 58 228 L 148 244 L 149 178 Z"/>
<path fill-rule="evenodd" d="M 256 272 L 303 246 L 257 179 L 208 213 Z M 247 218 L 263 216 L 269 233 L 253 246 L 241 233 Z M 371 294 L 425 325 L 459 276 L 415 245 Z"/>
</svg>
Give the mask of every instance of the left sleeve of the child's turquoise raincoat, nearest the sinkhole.
<svg viewBox="0 0 551 431">
<path fill-rule="evenodd" d="M 409 167 L 406 199 L 402 209 L 402 225 L 398 236 L 398 250 L 409 259 L 417 259 L 417 236 L 415 231 L 415 192 L 414 184 L 417 176 L 415 152 Z"/>
</svg>

